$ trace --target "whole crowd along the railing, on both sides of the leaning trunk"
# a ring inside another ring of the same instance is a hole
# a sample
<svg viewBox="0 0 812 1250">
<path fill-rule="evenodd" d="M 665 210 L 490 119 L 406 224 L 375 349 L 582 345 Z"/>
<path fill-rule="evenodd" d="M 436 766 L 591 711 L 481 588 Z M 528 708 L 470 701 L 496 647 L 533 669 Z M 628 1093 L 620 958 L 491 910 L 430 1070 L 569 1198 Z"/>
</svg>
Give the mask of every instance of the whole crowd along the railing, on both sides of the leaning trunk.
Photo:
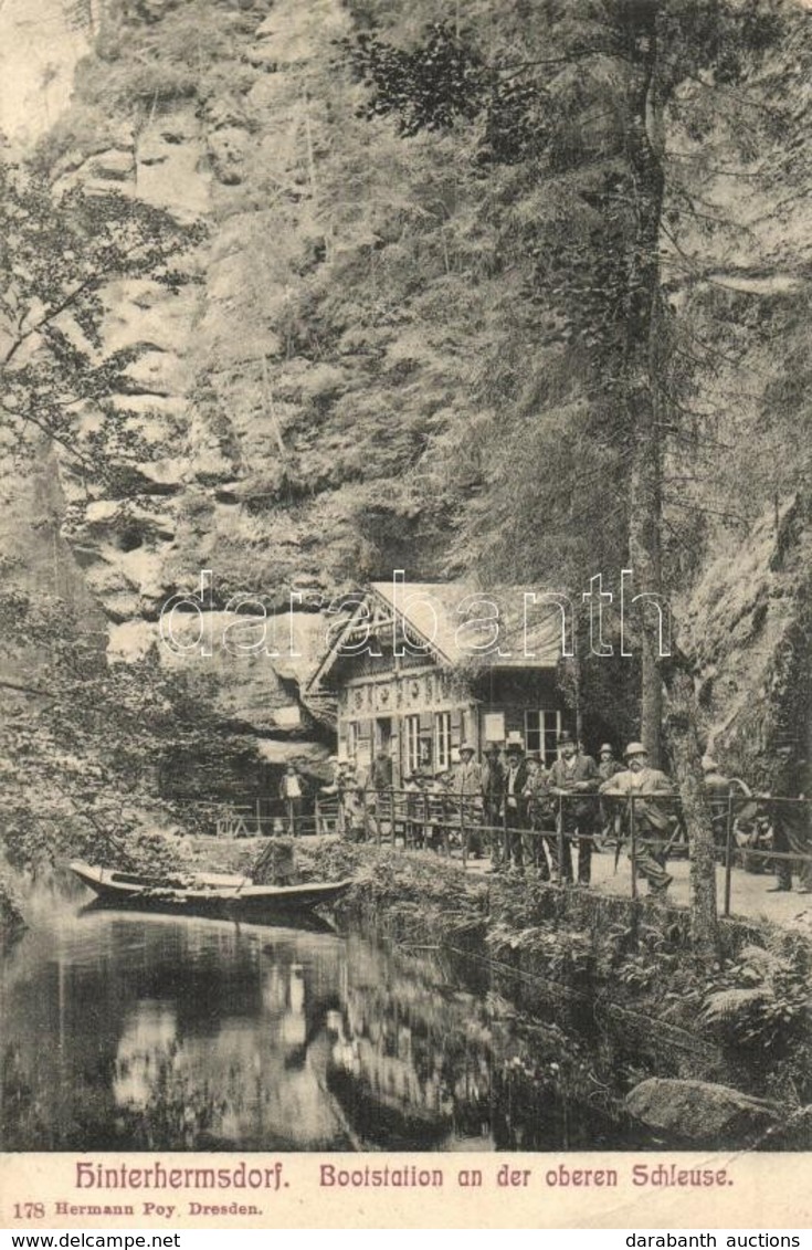
<svg viewBox="0 0 812 1250">
<path fill-rule="evenodd" d="M 334 756 L 332 782 L 321 792 L 336 796 L 336 828 L 352 839 L 381 836 L 400 814 L 410 845 L 447 850 L 456 840 L 481 859 L 490 842 L 492 872 L 535 872 L 541 880 L 578 885 L 591 881 L 596 846 L 611 844 L 633 856 L 651 894 L 665 895 L 672 882 L 668 854 L 685 835 L 671 779 L 650 765 L 642 742 L 630 742 L 622 762 L 608 742 L 596 761 L 566 731 L 556 745 L 558 756 L 546 766 L 538 752 L 525 750 L 517 732 L 505 742 L 488 742 L 481 761 L 463 741 L 458 764 L 407 774 L 401 789 L 394 786 L 385 748 L 364 771 Z M 771 889 L 792 889 L 792 858 L 810 851 L 806 806 L 752 795 L 742 782 L 737 789 L 711 756 L 703 759 L 702 771 L 720 860 L 735 814 L 736 846 L 761 846 L 762 861 L 765 850 L 778 852 Z M 807 860 L 801 861 L 798 889 L 812 892 Z"/>
</svg>

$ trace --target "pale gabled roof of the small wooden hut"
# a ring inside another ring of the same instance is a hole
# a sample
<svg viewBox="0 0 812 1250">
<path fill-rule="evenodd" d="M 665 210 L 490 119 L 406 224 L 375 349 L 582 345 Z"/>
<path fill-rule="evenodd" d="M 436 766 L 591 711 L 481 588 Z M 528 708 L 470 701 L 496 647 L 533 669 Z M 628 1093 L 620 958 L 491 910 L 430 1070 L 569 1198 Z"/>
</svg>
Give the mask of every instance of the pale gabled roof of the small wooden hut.
<svg viewBox="0 0 812 1250">
<path fill-rule="evenodd" d="M 555 669 L 562 619 L 555 602 L 525 600 L 530 588 L 482 591 L 466 581 L 374 581 L 347 596 L 347 619 L 309 682 L 315 690 L 354 640 L 387 631 L 445 668 Z"/>
</svg>

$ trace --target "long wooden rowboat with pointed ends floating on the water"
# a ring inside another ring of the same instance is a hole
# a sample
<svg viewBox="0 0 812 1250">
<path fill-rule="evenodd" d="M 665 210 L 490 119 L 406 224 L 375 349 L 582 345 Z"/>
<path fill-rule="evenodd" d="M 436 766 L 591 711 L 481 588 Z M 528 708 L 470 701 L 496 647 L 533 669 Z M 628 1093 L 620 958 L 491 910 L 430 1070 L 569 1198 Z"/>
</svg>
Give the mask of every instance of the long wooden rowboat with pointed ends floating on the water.
<svg viewBox="0 0 812 1250">
<path fill-rule="evenodd" d="M 105 906 L 245 920 L 274 920 L 280 915 L 311 911 L 332 902 L 352 884 L 347 880 L 254 885 L 247 876 L 222 872 L 179 872 L 159 878 L 80 861 L 69 868 Z"/>
</svg>

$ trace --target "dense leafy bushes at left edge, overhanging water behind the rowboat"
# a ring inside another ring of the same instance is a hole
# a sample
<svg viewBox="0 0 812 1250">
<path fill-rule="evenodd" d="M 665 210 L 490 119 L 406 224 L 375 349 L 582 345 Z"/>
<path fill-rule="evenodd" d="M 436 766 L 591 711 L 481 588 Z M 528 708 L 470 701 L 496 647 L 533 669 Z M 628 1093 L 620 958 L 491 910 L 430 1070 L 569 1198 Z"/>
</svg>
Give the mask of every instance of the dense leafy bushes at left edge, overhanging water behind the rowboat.
<svg viewBox="0 0 812 1250">
<path fill-rule="evenodd" d="M 39 662 L 29 685 L 2 682 L 0 839 L 16 868 L 80 856 L 110 866 L 175 865 L 179 834 L 205 824 L 161 796 L 191 758 L 221 774 L 254 752 L 211 715 L 206 678 L 166 671 L 155 652 L 109 664 L 55 598 L 32 596 L 2 566 L 6 652 Z"/>
</svg>

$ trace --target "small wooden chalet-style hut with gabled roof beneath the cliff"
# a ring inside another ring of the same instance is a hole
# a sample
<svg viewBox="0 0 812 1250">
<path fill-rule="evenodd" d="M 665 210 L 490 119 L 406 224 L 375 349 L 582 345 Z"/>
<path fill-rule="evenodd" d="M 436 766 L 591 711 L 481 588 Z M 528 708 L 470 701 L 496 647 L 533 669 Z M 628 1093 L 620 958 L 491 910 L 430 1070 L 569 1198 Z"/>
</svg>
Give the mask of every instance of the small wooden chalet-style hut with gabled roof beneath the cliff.
<svg viewBox="0 0 812 1250">
<path fill-rule="evenodd" d="M 463 740 L 480 754 L 511 732 L 550 764 L 563 721 L 563 612 L 551 604 L 540 615 L 532 598 L 458 581 L 372 582 L 346 600 L 305 701 L 360 766 L 386 750 L 396 785 L 448 768 Z"/>
</svg>

